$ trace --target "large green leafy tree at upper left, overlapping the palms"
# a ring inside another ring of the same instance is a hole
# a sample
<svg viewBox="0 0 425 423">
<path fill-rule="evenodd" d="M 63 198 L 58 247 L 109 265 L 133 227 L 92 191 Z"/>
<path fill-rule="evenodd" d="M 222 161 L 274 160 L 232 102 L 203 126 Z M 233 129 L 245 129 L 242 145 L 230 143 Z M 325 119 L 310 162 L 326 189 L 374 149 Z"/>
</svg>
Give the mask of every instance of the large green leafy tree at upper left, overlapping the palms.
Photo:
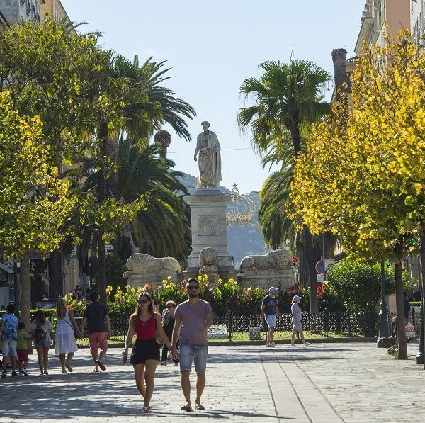
<svg viewBox="0 0 425 423">
<path fill-rule="evenodd" d="M 52 153 L 50 163 L 61 169 L 61 176 L 67 169 L 64 177 L 72 181 L 77 196 L 81 195 L 79 162 L 87 154 L 101 155 L 97 139 L 92 136 L 98 120 L 107 118 L 113 128 L 121 118 L 117 113 L 120 103 L 113 101 L 111 93 L 99 90 L 106 78 L 108 56 L 96 42 L 96 34 L 71 35 L 65 23 L 55 23 L 52 19 L 42 26 L 13 25 L 0 33 L 0 90 L 5 87 L 10 90 L 13 108 L 21 115 L 40 117 L 42 139 Z M 125 87 L 123 81 L 111 85 L 116 90 Z M 93 198 L 79 198 L 79 204 L 90 205 L 89 211 L 93 210 Z M 88 214 L 83 208 L 75 208 L 67 225 L 89 224 L 84 220 Z M 105 214 L 111 217 L 117 210 L 123 208 L 108 212 L 99 208 L 96 220 L 102 220 Z M 63 294 L 62 261 L 61 250 L 55 249 L 51 269 L 53 298 Z"/>
</svg>

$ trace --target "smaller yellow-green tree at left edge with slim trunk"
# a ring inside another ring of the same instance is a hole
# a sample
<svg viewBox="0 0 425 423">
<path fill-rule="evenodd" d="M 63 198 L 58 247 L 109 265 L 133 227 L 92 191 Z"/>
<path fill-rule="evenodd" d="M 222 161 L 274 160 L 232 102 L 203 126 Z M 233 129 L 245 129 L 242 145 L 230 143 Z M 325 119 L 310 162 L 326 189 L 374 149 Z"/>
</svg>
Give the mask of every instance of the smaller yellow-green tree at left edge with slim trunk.
<svg viewBox="0 0 425 423">
<path fill-rule="evenodd" d="M 21 118 L 0 93 L 0 251 L 21 260 L 22 320 L 30 322 L 29 252 L 60 246 L 78 198 L 50 164 L 40 118 Z"/>
</svg>

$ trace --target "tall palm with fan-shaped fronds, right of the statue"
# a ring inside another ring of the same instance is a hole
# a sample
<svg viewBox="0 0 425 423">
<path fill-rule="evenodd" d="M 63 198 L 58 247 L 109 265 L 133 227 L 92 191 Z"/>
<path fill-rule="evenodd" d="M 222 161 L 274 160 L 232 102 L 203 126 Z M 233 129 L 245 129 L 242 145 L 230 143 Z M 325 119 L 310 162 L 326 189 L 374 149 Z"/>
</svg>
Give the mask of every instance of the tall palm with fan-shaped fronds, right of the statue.
<svg viewBox="0 0 425 423">
<path fill-rule="evenodd" d="M 281 151 L 288 140 L 288 132 L 293 145 L 293 155 L 302 152 L 301 133 L 329 113 L 329 103 L 323 101 L 322 90 L 331 80 L 331 76 L 324 69 L 317 67 L 314 62 L 291 59 L 288 64 L 268 61 L 259 65 L 264 73 L 260 79 L 254 77 L 245 79 L 239 93 L 244 98 L 254 98 L 254 106 L 241 108 L 238 113 L 239 125 L 242 129 L 251 128 L 253 145 L 256 150 L 266 152 L 274 148 Z M 278 157 L 275 157 L 278 160 Z M 289 189 L 289 178 L 283 180 L 275 175 L 268 179 L 261 193 L 271 190 L 268 205 L 263 208 L 263 216 L 276 214 L 283 210 Z M 288 176 L 288 175 L 286 175 Z M 277 181 L 280 180 L 280 184 Z M 283 192 L 282 192 L 283 191 Z M 273 200 L 273 206 L 270 203 Z M 267 213 L 266 211 L 267 210 Z M 279 213 L 282 216 L 282 213 Z M 290 226 L 285 218 L 276 221 L 280 232 Z M 278 228 L 274 227 L 275 230 Z M 310 310 L 313 313 L 317 308 L 317 273 L 314 269 L 315 256 L 312 235 L 307 227 L 303 230 L 307 263 L 309 269 L 311 302 Z M 304 281 L 306 282 L 306 281 Z"/>
</svg>

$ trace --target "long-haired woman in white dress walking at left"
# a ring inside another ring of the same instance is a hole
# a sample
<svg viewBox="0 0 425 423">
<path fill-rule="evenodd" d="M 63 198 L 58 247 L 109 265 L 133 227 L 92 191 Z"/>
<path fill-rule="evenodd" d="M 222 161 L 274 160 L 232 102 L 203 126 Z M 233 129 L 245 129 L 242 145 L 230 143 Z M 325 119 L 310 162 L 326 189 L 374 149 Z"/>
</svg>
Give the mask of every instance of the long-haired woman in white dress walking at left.
<svg viewBox="0 0 425 423">
<path fill-rule="evenodd" d="M 74 352 L 78 351 L 77 342 L 75 342 L 74 329 L 78 337 L 81 337 L 81 332 L 75 322 L 74 312 L 67 308 L 67 302 L 60 297 L 56 302 L 56 354 L 59 354 L 60 363 L 62 365 L 62 373 L 72 372 L 71 360 Z M 68 354 L 67 359 L 65 356 Z"/>
</svg>

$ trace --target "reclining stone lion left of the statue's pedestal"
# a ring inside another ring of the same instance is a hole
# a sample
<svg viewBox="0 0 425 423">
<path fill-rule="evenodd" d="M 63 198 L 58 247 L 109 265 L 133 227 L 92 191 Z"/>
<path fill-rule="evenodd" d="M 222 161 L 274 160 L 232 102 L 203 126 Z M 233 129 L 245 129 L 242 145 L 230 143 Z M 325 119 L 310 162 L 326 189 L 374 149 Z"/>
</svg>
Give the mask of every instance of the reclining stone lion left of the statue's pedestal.
<svg viewBox="0 0 425 423">
<path fill-rule="evenodd" d="M 168 271 L 171 274 L 181 273 L 179 261 L 174 257 L 153 257 L 149 254 L 134 253 L 127 260 L 125 267 L 129 270 L 127 276 L 130 274 L 144 274 L 144 273 L 165 273 Z"/>
</svg>

